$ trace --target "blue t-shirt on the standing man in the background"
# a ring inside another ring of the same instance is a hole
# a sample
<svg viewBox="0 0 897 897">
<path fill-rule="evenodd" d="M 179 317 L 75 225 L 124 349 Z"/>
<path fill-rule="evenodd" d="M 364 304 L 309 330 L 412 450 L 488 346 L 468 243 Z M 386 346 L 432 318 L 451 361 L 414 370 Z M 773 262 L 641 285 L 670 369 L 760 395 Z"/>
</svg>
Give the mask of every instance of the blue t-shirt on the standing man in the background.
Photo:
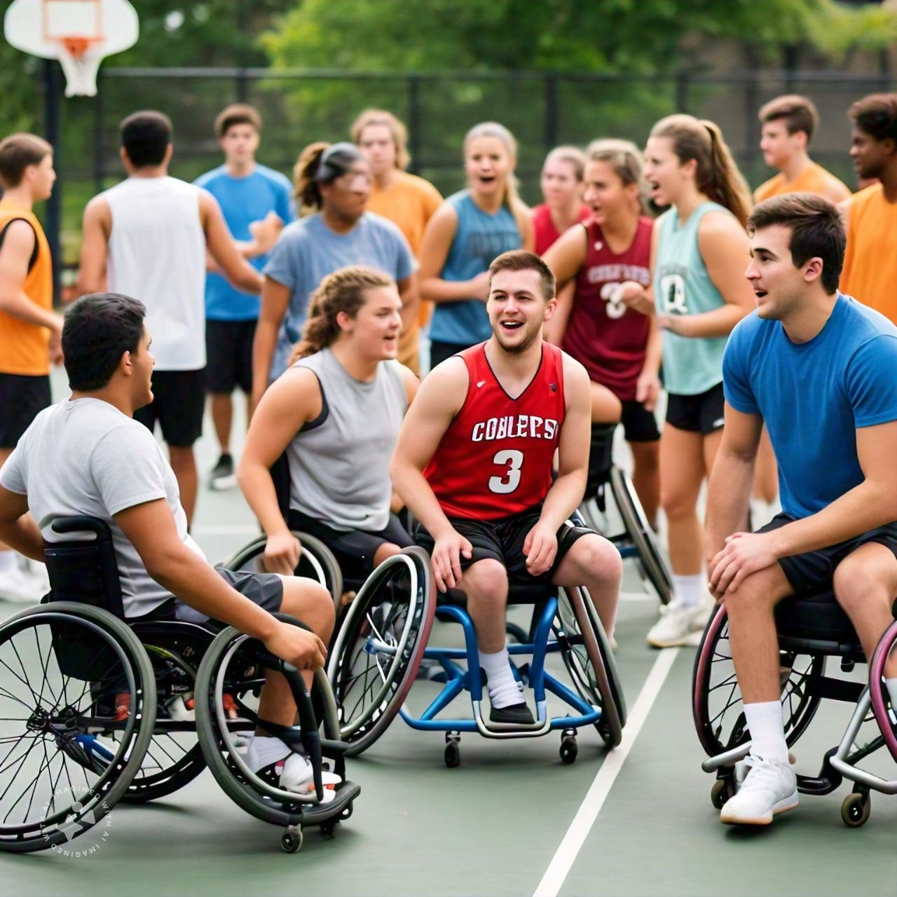
<svg viewBox="0 0 897 897">
<path fill-rule="evenodd" d="M 206 171 L 194 181 L 204 187 L 222 207 L 224 221 L 234 239 L 251 240 L 249 223 L 261 221 L 267 213 L 277 213 L 284 224 L 295 217 L 292 212 L 292 185 L 279 171 L 257 165 L 246 178 L 231 178 L 227 167 Z M 259 271 L 267 256 L 249 259 Z M 205 317 L 213 321 L 252 321 L 258 317 L 258 297 L 232 287 L 222 274 L 205 277 Z"/>
</svg>

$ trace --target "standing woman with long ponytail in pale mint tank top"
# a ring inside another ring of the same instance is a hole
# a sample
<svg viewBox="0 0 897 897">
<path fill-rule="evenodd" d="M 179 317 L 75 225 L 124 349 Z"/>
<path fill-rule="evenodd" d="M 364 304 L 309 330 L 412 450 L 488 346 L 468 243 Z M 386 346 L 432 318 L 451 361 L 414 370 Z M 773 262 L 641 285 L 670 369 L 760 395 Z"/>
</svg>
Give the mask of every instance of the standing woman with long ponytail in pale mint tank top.
<svg viewBox="0 0 897 897">
<path fill-rule="evenodd" d="M 710 612 L 698 494 L 722 438 L 727 338 L 755 306 L 745 280 L 751 196 L 719 128 L 688 115 L 663 118 L 651 130 L 644 177 L 651 198 L 670 206 L 654 225 L 653 296 L 625 283 L 620 299 L 656 314 L 663 334 L 660 503 L 675 596 L 648 641 L 667 648 L 696 644 Z"/>
</svg>

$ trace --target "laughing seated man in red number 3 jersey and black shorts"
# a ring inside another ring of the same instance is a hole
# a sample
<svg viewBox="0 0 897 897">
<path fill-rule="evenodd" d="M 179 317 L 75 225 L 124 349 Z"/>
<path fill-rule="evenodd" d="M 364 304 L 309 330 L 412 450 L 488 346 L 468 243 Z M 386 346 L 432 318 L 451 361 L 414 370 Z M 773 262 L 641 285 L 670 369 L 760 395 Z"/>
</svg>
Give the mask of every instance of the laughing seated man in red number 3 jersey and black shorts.
<svg viewBox="0 0 897 897">
<path fill-rule="evenodd" d="M 437 588 L 466 595 L 490 720 L 527 725 L 505 646 L 509 581 L 585 586 L 610 634 L 623 569 L 614 545 L 567 523 L 586 488 L 590 392 L 579 361 L 542 338 L 557 307 L 554 275 L 522 250 L 496 258 L 489 274 L 492 337 L 423 380 L 391 475 L 420 521 Z"/>
</svg>

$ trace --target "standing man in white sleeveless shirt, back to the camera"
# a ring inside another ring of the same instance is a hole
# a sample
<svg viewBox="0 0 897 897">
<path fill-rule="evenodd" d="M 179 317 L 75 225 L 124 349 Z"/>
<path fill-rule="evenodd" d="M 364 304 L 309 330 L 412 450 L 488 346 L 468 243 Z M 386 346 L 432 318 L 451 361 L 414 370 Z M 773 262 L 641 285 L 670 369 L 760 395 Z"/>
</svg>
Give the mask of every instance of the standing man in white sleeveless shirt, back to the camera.
<svg viewBox="0 0 897 897">
<path fill-rule="evenodd" d="M 122 122 L 128 177 L 84 210 L 79 286 L 146 300 L 157 335 L 155 399 L 135 419 L 151 430 L 161 424 L 189 521 L 197 491 L 193 443 L 205 410 L 206 249 L 239 288 L 257 293 L 262 279 L 240 257 L 214 197 L 168 176 L 171 152 L 171 123 L 161 112 L 135 112 Z"/>
</svg>

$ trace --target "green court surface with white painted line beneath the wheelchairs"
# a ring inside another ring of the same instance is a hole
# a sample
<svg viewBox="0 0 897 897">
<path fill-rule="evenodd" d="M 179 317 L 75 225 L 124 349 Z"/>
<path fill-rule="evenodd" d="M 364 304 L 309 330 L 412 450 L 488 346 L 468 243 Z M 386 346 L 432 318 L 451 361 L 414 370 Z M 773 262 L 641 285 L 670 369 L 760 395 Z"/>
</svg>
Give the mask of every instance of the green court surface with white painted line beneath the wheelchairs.
<svg viewBox="0 0 897 897">
<path fill-rule="evenodd" d="M 199 456 L 205 473 L 215 456 L 208 422 Z M 257 535 L 239 492 L 205 488 L 194 531 L 215 561 Z M 0 893 L 893 897 L 897 797 L 874 793 L 871 818 L 856 830 L 840 818 L 847 783 L 827 797 L 802 796 L 797 810 L 765 829 L 718 822 L 713 776 L 701 771 L 692 725 L 694 649 L 650 650 L 645 632 L 657 599 L 631 564 L 623 588 L 616 658 L 629 722 L 613 752 L 591 729 L 580 731 L 571 765 L 559 757 L 559 733 L 505 743 L 465 734 L 460 765 L 447 769 L 443 736 L 396 718 L 367 753 L 349 759 L 361 796 L 333 840 L 309 829 L 301 852 L 284 854 L 281 829 L 240 810 L 204 771 L 151 805 L 116 806 L 73 842 L 96 848 L 86 856 L 0 854 Z M 0 605 L 0 617 L 17 609 Z M 511 618 L 526 624 L 528 610 Z M 458 638 L 457 627 L 436 623 L 431 642 Z M 564 677 L 557 655 L 548 669 Z M 835 664 L 830 673 L 858 679 L 865 668 L 840 674 Z M 439 688 L 418 681 L 409 708 L 420 712 Z M 459 700 L 457 709 L 469 713 L 469 703 Z M 796 745 L 798 770 L 818 770 L 849 712 L 847 704 L 823 704 Z M 885 752 L 867 768 L 894 778 Z"/>
</svg>

